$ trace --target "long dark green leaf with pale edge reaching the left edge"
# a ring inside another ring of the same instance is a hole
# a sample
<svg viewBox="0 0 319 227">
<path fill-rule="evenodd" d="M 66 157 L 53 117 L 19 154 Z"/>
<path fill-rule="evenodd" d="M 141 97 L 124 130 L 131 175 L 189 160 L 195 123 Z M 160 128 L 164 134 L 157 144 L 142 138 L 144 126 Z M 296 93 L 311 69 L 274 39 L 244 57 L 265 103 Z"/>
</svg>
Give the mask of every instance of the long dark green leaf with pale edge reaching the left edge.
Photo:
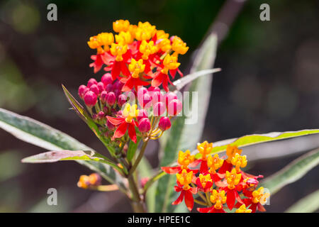
<svg viewBox="0 0 319 227">
<path fill-rule="evenodd" d="M 71 136 L 57 131 L 44 123 L 5 109 L 0 109 L 0 128 L 20 140 L 46 150 L 93 150 Z M 77 162 L 89 167 L 94 172 L 99 172 L 108 182 L 118 184 L 119 188 L 123 192 L 125 191 L 123 178 L 109 165 L 82 160 L 77 160 Z"/>
</svg>

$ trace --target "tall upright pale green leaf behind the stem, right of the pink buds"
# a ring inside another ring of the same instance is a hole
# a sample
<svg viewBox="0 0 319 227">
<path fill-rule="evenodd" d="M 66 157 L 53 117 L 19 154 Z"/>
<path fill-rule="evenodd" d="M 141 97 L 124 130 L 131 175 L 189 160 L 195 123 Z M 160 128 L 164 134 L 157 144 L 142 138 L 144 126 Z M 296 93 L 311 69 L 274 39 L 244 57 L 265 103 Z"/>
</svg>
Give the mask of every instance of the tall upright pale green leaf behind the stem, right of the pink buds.
<svg viewBox="0 0 319 227">
<path fill-rule="evenodd" d="M 194 56 L 194 64 L 191 67 L 191 73 L 200 70 L 208 70 L 213 67 L 213 62 L 216 57 L 217 37 L 215 34 L 209 35 L 203 43 L 203 46 L 196 52 Z M 167 166 L 177 160 L 179 150 L 193 150 L 196 144 L 201 139 L 203 127 L 208 109 L 209 99 L 211 96 L 212 74 L 205 77 L 198 77 L 191 82 L 190 92 L 190 107 L 192 100 L 192 92 L 198 92 L 198 105 L 192 111 L 197 113 L 196 123 L 186 123 L 193 116 L 179 116 L 172 124 L 172 128 L 164 136 L 161 141 L 162 152 L 159 153 L 160 166 Z M 196 94 L 195 94 L 196 95 Z M 196 98 L 196 96 L 195 96 Z M 201 107 L 198 110 L 198 106 Z M 191 111 L 191 112 L 192 112 Z M 174 184 L 176 179 L 174 175 L 164 175 L 157 184 L 156 192 L 156 209 L 157 212 L 172 212 L 175 207 L 172 206 L 172 201 L 177 196 L 174 192 Z M 185 210 L 186 211 L 186 206 Z M 181 211 L 181 210 L 179 210 Z"/>
</svg>

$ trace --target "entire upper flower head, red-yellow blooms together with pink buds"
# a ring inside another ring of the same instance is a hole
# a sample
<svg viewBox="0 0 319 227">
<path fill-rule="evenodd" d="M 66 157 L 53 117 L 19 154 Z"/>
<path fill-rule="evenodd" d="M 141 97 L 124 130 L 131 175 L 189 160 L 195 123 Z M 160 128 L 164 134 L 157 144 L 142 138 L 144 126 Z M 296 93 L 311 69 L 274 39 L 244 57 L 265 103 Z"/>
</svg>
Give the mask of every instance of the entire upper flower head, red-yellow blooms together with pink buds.
<svg viewBox="0 0 319 227">
<path fill-rule="evenodd" d="M 81 85 L 79 96 L 106 138 L 118 144 L 128 138 L 136 143 L 138 136 L 157 139 L 181 112 L 181 101 L 169 92 L 168 83 L 169 77 L 181 74 L 177 60 L 189 48 L 181 38 L 169 38 L 148 22 L 136 26 L 118 20 L 113 31 L 117 34 L 99 33 L 89 39 L 89 48 L 96 49 L 90 66 L 95 73 L 102 67 L 106 73 L 100 82 L 91 78 Z"/>
</svg>

